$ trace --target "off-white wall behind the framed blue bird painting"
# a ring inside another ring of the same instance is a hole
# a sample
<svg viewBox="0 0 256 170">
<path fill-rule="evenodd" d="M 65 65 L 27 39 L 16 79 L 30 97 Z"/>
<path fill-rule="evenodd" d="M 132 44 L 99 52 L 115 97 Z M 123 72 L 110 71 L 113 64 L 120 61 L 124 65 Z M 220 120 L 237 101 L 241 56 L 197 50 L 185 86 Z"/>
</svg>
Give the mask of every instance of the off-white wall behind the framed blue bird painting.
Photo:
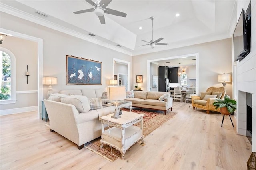
<svg viewBox="0 0 256 170">
<path fill-rule="evenodd" d="M 87 42 L 80 38 L 75 38 L 4 12 L 0 12 L 0 27 L 43 39 L 42 75 L 57 77 L 58 84 L 52 86 L 53 92 L 59 92 L 63 89 L 105 88 L 113 76 L 113 58 L 132 62 L 132 57 L 126 54 Z M 66 55 L 102 62 L 102 85 L 66 85 Z M 17 62 L 17 67 L 20 67 L 19 65 L 20 63 Z M 22 73 L 25 71 L 26 68 L 24 68 Z M 42 87 L 41 84 L 39 86 L 39 88 L 43 88 L 43 98 L 47 98 L 48 86 Z M 18 88 L 19 84 L 17 84 Z"/>
</svg>

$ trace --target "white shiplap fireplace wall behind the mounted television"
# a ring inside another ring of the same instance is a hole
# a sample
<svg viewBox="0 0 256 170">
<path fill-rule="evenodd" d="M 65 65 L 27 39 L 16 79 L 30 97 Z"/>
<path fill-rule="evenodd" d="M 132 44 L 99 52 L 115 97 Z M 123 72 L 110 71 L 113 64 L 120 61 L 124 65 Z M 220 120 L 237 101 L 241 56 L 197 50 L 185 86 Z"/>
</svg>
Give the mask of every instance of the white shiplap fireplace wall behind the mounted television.
<svg viewBox="0 0 256 170">
<path fill-rule="evenodd" d="M 236 21 L 242 8 L 246 11 L 250 0 L 237 1 Z M 238 98 L 237 132 L 245 135 L 246 113 L 244 92 L 252 93 L 252 152 L 256 152 L 256 1 L 251 1 L 251 52 L 241 61 L 236 62 L 236 95 Z"/>
</svg>

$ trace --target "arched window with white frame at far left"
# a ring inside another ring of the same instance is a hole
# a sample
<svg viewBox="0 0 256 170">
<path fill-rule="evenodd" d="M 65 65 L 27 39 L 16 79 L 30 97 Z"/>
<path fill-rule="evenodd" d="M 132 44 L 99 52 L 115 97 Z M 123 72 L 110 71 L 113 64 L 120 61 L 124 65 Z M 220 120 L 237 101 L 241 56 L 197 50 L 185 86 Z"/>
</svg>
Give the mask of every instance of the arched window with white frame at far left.
<svg viewBox="0 0 256 170">
<path fill-rule="evenodd" d="M 10 50 L 0 47 L 0 104 L 16 102 L 16 58 Z"/>
</svg>

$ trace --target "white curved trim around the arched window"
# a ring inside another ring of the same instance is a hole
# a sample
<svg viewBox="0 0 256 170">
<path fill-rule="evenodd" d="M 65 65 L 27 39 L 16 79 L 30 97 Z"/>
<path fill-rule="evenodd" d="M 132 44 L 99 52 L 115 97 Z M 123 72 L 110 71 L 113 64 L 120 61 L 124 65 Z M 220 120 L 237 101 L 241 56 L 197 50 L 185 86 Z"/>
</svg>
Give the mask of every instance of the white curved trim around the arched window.
<svg viewBox="0 0 256 170">
<path fill-rule="evenodd" d="M 11 82 L 12 82 L 11 83 L 11 98 L 10 98 L 10 100 L 0 100 L 0 104 L 12 104 L 12 103 L 16 102 L 16 57 L 7 48 L 0 47 L 0 51 L 5 52 L 11 58 Z"/>
</svg>

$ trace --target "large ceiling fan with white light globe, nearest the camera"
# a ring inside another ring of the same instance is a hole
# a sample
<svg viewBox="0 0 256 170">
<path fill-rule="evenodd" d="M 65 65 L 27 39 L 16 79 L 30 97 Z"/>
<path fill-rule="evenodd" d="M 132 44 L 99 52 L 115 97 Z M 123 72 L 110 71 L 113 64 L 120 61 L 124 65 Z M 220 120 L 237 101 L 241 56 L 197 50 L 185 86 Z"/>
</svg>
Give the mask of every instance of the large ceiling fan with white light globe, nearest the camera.
<svg viewBox="0 0 256 170">
<path fill-rule="evenodd" d="M 126 17 L 126 15 L 127 15 L 126 13 L 116 11 L 116 10 L 112 10 L 110 8 L 106 8 L 112 0 L 96 0 L 95 2 L 93 2 L 92 0 L 85 0 L 85 1 L 88 2 L 89 4 L 91 4 L 92 6 L 94 6 L 94 8 L 90 8 L 90 9 L 86 9 L 86 10 L 80 10 L 80 11 L 76 11 L 74 13 L 75 14 L 82 14 L 82 13 L 85 13 L 85 12 L 94 11 L 94 13 L 99 17 L 101 24 L 105 24 L 104 13 L 111 14 L 111 15 L 116 15 L 116 16 L 122 16 L 122 17 Z"/>
</svg>

